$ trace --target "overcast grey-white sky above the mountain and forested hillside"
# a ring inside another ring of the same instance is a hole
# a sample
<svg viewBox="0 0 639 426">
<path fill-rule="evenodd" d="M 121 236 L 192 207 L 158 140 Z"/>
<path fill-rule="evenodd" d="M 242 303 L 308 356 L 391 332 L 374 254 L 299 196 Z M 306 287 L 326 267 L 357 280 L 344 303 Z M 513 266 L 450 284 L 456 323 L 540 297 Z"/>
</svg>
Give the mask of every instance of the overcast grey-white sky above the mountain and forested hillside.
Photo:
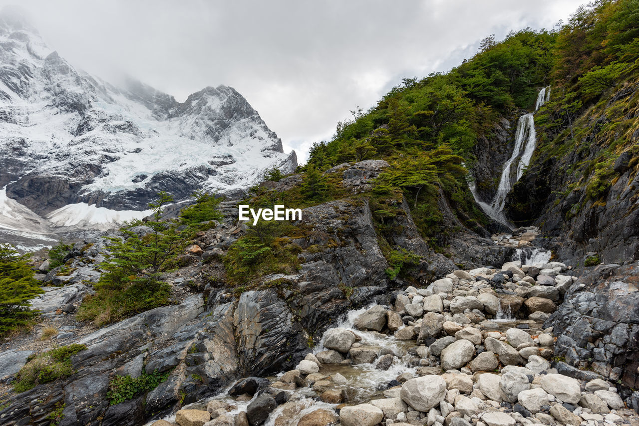
<svg viewBox="0 0 639 426">
<path fill-rule="evenodd" d="M 402 77 L 449 70 L 489 34 L 551 29 L 584 2 L 19 3 L 50 48 L 107 80 L 128 73 L 180 101 L 205 86 L 235 87 L 303 162 L 349 110 L 373 106 Z"/>
</svg>

